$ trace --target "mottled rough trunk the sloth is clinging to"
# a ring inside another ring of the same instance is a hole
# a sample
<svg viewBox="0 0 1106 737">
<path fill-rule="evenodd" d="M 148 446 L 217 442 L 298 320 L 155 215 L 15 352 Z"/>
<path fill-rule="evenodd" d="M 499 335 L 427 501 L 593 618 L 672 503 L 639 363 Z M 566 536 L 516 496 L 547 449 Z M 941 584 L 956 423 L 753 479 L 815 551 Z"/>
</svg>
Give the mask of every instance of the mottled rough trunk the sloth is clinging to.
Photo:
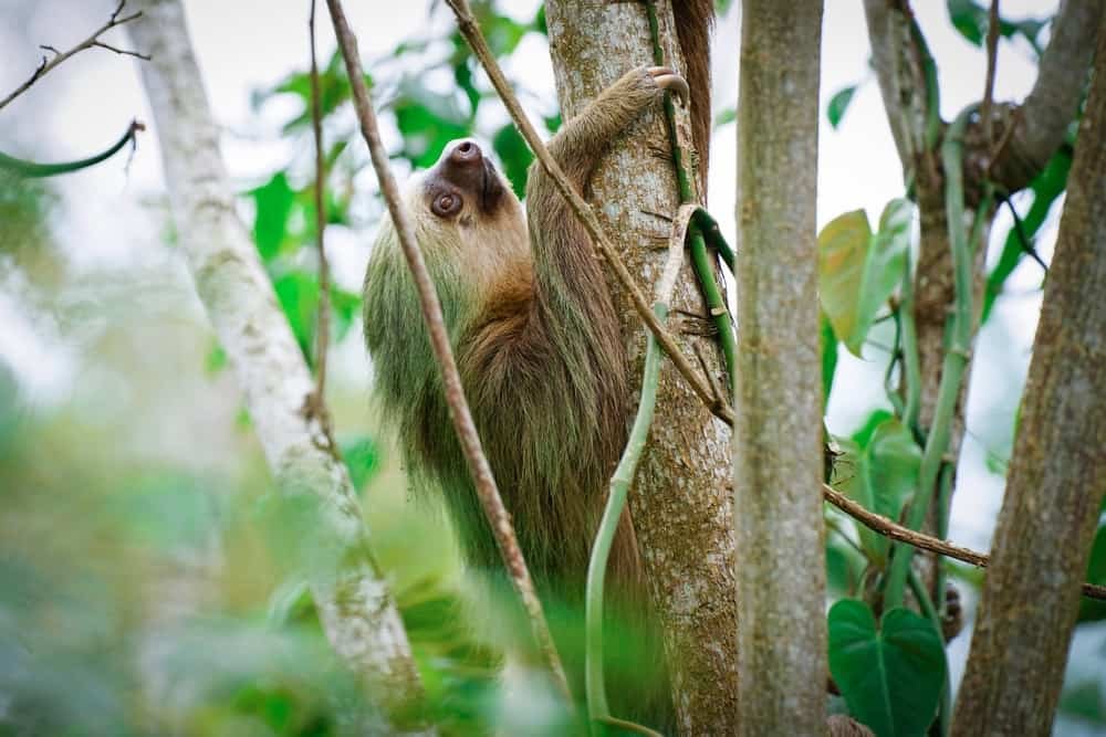
<svg viewBox="0 0 1106 737">
<path fill-rule="evenodd" d="M 666 57 L 682 69 L 671 6 L 656 3 Z M 580 113 L 627 70 L 653 63 L 649 27 L 641 3 L 546 4 L 550 51 L 565 119 Z M 706 53 L 706 50 L 699 50 Z M 697 104 L 697 101 L 692 101 Z M 646 113 L 602 161 L 585 192 L 605 232 L 639 284 L 660 275 L 671 214 L 678 206 L 662 112 Z M 679 125 L 690 141 L 687 119 Z M 630 356 L 627 370 L 640 382 L 645 333 L 624 292 L 612 282 Z M 678 310 L 706 315 L 695 275 L 686 266 L 672 298 Z M 685 352 L 697 361 L 688 337 Z M 709 370 L 724 385 L 717 351 Z M 732 733 L 737 714 L 734 664 L 737 613 L 733 581 L 732 501 L 727 474 L 729 430 L 706 410 L 675 371 L 661 372 L 656 419 L 630 494 L 638 545 L 654 604 L 665 628 L 665 651 L 681 734 Z"/>
</svg>

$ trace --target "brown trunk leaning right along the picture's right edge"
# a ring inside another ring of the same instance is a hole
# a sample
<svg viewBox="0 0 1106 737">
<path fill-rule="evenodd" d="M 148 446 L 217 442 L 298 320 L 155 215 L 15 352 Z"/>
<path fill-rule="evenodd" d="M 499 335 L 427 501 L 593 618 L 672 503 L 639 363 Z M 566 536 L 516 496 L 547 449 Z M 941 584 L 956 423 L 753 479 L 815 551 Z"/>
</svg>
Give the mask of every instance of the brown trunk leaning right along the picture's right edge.
<svg viewBox="0 0 1106 737">
<path fill-rule="evenodd" d="M 1106 25 L 953 730 L 1044 735 L 1106 478 Z"/>
</svg>

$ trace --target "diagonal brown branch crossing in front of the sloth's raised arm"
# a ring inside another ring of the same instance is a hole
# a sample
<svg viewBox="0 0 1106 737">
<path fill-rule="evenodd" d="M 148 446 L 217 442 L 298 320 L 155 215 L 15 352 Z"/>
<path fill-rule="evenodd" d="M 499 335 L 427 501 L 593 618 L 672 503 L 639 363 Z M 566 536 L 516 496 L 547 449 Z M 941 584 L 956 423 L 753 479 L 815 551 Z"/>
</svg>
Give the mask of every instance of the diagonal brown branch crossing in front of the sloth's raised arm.
<svg viewBox="0 0 1106 737">
<path fill-rule="evenodd" d="M 491 80 L 492 86 L 495 87 L 495 92 L 499 93 L 500 98 L 503 101 L 503 105 L 507 107 L 507 112 L 511 115 L 511 119 L 514 120 L 514 125 L 519 128 L 522 137 L 525 138 L 526 144 L 530 146 L 530 150 L 534 152 L 538 160 L 542 162 L 545 171 L 549 172 L 550 178 L 553 180 L 554 186 L 561 193 L 561 197 L 565 199 L 568 207 L 572 209 L 573 213 L 583 223 L 584 229 L 587 234 L 592 238 L 592 243 L 596 249 L 598 249 L 598 254 L 602 256 L 611 269 L 614 271 L 615 277 L 623 285 L 623 288 L 630 296 L 630 302 L 634 304 L 634 309 L 645 322 L 649 330 L 657 336 L 657 343 L 660 344 L 661 348 L 665 349 L 665 354 L 676 366 L 676 370 L 680 372 L 685 379 L 687 379 L 688 385 L 690 385 L 691 390 L 702 400 L 707 408 L 720 420 L 726 422 L 728 425 L 733 425 L 733 410 L 726 403 L 718 401 L 710 390 L 710 385 L 707 380 L 696 371 L 691 361 L 688 357 L 684 355 L 676 339 L 672 335 L 665 329 L 665 326 L 660 324 L 657 316 L 653 313 L 653 307 L 646 301 L 645 294 L 641 288 L 634 281 L 626 265 L 618 257 L 618 252 L 615 250 L 614 245 L 607 240 L 606 235 L 603 233 L 603 228 L 599 225 L 599 221 L 595 218 L 595 213 L 592 208 L 587 206 L 584 198 L 573 189 L 572 185 L 568 183 L 567 177 L 565 177 L 564 171 L 561 170 L 561 166 L 553 159 L 550 155 L 549 149 L 545 148 L 545 144 L 538 136 L 538 131 L 534 129 L 533 124 L 526 117 L 526 114 L 522 110 L 522 106 L 519 104 L 519 98 L 514 95 L 511 90 L 511 85 L 508 83 L 507 77 L 503 76 L 503 71 L 499 66 L 499 62 L 495 61 L 494 54 L 488 48 L 488 42 L 484 41 L 483 35 L 480 32 L 480 27 L 477 23 L 476 18 L 472 15 L 472 10 L 469 8 L 468 0 L 446 0 L 446 4 L 453 11 L 453 15 L 457 18 L 457 28 L 460 30 L 461 35 L 468 42 L 469 48 L 472 49 L 472 53 L 476 54 L 477 59 L 480 60 L 480 64 L 484 67 L 488 73 L 488 77 Z"/>
</svg>

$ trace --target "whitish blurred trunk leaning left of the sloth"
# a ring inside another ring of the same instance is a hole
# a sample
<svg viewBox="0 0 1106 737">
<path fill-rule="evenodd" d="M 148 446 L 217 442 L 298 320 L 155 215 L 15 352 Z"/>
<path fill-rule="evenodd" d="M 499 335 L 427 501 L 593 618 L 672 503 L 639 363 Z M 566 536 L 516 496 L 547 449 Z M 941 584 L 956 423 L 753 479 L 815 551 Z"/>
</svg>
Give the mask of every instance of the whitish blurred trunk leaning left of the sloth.
<svg viewBox="0 0 1106 737">
<path fill-rule="evenodd" d="M 253 428 L 281 488 L 314 499 L 309 530 L 327 548 L 312 591 L 331 644 L 386 710 L 421 698 L 407 635 L 376 570 L 345 466 L 303 413 L 314 389 L 257 250 L 234 212 L 184 9 L 145 0 L 131 28 L 153 61 L 140 65 L 161 147 L 180 249 L 208 317 L 230 358 Z"/>
</svg>

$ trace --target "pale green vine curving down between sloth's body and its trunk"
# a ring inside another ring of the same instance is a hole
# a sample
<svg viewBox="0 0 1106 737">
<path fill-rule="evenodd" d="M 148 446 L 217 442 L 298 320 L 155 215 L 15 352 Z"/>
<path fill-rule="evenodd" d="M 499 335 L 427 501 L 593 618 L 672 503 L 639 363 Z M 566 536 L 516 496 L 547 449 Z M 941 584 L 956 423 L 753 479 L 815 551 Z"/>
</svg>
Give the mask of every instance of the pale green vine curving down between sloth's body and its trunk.
<svg viewBox="0 0 1106 737">
<path fill-rule="evenodd" d="M 654 304 L 654 312 L 661 323 L 668 317 L 668 306 L 661 302 Z M 611 708 L 607 705 L 607 692 L 603 677 L 603 587 L 606 579 L 607 558 L 615 539 L 618 520 L 626 507 L 626 495 L 634 481 L 634 472 L 641 457 L 646 440 L 649 438 L 649 427 L 653 424 L 653 411 L 657 401 L 657 378 L 660 375 L 660 346 L 650 333 L 647 336 L 645 351 L 645 371 L 641 377 L 641 401 L 634 418 L 626 450 L 618 461 L 614 475 L 611 477 L 611 495 L 603 510 L 599 531 L 592 547 L 592 558 L 587 566 L 587 586 L 585 589 L 585 670 L 584 688 L 587 697 L 587 715 L 593 722 L 611 719 Z"/>
</svg>

